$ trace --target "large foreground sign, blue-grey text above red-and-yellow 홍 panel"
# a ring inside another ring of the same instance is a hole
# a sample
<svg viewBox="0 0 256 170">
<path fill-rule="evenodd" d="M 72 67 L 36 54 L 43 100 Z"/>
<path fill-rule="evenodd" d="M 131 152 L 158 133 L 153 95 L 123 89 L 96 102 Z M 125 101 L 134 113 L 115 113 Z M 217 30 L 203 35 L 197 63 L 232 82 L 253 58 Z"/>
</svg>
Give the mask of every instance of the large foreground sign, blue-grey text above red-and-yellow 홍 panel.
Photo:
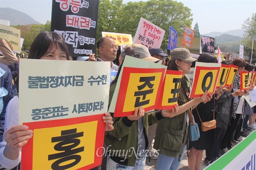
<svg viewBox="0 0 256 170">
<path fill-rule="evenodd" d="M 22 147 L 21 169 L 84 170 L 101 164 L 109 66 L 20 59 L 19 121 L 33 130 Z"/>
</svg>

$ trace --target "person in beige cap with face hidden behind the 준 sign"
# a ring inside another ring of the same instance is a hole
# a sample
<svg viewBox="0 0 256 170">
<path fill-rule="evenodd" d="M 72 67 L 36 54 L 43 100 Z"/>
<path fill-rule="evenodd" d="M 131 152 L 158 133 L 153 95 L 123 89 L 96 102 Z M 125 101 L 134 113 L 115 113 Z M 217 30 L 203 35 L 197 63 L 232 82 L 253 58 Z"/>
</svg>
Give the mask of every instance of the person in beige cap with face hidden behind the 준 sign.
<svg viewBox="0 0 256 170">
<path fill-rule="evenodd" d="M 151 57 L 148 48 L 140 44 L 125 46 L 121 53 L 122 59 L 125 59 L 127 55 L 150 62 L 160 61 Z M 119 67 L 116 79 L 111 83 L 109 104 L 121 69 L 122 65 Z M 108 151 L 107 170 L 144 170 L 146 156 L 150 154 L 148 153 L 148 125 L 153 125 L 164 117 L 172 116 L 177 111 L 176 105 L 174 109 L 145 113 L 142 106 L 140 106 L 135 109 L 131 116 L 113 117 L 114 130 L 107 132 L 105 137 L 106 151 Z M 123 154 L 118 154 L 116 151 L 121 151 Z"/>
</svg>

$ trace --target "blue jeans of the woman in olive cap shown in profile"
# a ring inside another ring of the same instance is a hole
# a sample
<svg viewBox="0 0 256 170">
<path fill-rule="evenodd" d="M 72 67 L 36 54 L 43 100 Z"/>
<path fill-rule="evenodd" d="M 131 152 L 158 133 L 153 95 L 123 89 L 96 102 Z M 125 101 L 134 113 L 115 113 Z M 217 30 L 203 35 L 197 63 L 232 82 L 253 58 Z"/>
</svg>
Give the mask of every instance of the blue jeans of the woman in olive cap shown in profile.
<svg viewBox="0 0 256 170">
<path fill-rule="evenodd" d="M 184 144 L 180 161 L 179 161 L 179 158 L 174 158 L 174 157 L 159 154 L 157 159 L 156 170 L 177 170 L 180 166 L 180 162 L 184 155 L 185 150 L 186 150 L 186 144 Z"/>
</svg>

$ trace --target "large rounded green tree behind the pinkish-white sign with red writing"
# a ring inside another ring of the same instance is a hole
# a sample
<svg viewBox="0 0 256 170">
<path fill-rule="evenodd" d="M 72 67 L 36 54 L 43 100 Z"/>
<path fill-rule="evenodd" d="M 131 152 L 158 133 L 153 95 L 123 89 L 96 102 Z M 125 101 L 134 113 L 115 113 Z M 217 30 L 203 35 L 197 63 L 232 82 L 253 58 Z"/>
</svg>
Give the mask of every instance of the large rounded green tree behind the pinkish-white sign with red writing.
<svg viewBox="0 0 256 170">
<path fill-rule="evenodd" d="M 169 26 L 174 28 L 178 35 L 182 35 L 185 26 L 191 27 L 192 14 L 183 3 L 173 0 L 148 0 L 146 2 L 129 2 L 120 12 L 121 33 L 135 35 L 140 17 L 165 30 L 161 48 L 165 49 L 169 40 Z"/>
</svg>

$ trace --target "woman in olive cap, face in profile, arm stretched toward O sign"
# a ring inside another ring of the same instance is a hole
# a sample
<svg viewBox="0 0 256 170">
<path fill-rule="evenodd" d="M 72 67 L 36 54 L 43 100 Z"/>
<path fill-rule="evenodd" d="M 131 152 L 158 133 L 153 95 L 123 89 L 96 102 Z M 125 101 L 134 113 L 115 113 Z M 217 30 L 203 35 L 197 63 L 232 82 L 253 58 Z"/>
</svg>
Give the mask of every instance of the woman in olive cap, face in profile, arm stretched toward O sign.
<svg viewBox="0 0 256 170">
<path fill-rule="evenodd" d="M 207 91 L 201 96 L 188 101 L 189 88 L 192 82 L 185 74 L 190 73 L 192 62 L 197 61 L 192 58 L 186 48 L 175 48 L 171 51 L 171 61 L 168 70 L 183 71 L 181 87 L 177 102 L 179 111 L 172 118 L 160 120 L 157 124 L 154 148 L 159 150 L 156 170 L 177 170 L 180 161 L 186 150 L 188 141 L 188 110 L 195 108 L 199 103 L 210 100 Z"/>
</svg>

